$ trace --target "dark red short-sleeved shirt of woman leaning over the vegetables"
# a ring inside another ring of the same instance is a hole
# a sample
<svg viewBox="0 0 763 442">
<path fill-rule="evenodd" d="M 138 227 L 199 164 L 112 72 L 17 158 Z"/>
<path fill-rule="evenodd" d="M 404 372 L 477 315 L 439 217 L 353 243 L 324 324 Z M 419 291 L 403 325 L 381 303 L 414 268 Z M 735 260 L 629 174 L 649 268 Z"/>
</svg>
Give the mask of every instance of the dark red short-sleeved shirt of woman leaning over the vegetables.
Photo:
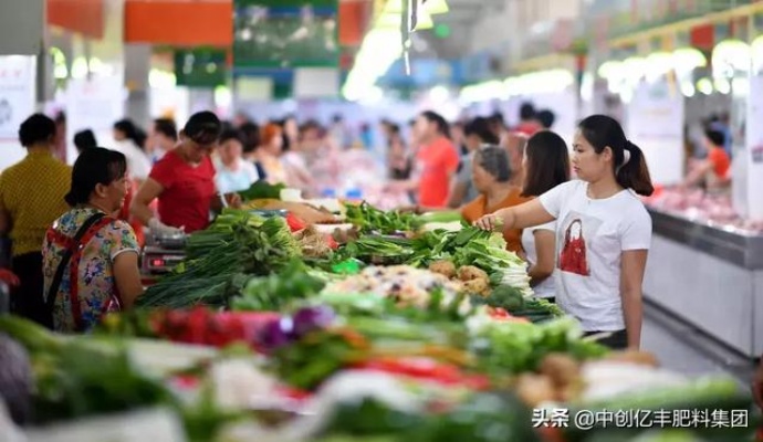
<svg viewBox="0 0 763 442">
<path fill-rule="evenodd" d="M 171 150 L 151 169 L 149 176 L 164 187 L 159 194 L 159 219 L 167 225 L 185 227 L 186 233 L 209 225 L 211 200 L 217 192 L 215 166 L 209 157 L 194 167 Z"/>
</svg>

